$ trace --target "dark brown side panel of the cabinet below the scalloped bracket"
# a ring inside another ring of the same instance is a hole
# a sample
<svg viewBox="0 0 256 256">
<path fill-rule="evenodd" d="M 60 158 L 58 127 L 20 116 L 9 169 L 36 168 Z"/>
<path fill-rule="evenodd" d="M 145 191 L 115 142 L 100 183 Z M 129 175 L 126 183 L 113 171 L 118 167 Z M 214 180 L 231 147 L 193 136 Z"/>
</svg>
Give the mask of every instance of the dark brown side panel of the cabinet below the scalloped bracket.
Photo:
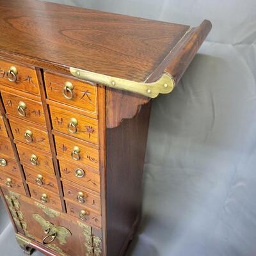
<svg viewBox="0 0 256 256">
<path fill-rule="evenodd" d="M 149 117 L 150 102 L 106 131 L 108 256 L 124 253 L 140 217 Z"/>
</svg>

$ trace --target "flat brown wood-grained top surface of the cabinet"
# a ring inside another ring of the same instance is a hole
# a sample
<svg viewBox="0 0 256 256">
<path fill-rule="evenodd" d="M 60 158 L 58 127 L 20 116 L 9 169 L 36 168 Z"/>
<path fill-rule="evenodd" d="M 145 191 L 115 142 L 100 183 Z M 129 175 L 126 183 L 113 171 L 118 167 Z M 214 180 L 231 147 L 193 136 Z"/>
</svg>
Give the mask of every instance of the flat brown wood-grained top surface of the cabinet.
<svg viewBox="0 0 256 256">
<path fill-rule="evenodd" d="M 0 0 L 0 26 L 0 56 L 138 82 L 190 28 L 36 0 Z"/>
</svg>

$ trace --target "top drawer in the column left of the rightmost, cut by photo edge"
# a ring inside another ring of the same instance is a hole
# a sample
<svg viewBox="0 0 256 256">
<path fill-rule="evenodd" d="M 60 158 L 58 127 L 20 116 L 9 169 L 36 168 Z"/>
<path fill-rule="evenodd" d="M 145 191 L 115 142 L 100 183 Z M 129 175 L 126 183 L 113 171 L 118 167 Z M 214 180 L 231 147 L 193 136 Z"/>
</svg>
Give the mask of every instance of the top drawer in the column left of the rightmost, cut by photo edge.
<svg viewBox="0 0 256 256">
<path fill-rule="evenodd" d="M 24 67 L 17 63 L 0 60 L 0 84 L 40 95 L 36 71 L 33 67 Z"/>
</svg>

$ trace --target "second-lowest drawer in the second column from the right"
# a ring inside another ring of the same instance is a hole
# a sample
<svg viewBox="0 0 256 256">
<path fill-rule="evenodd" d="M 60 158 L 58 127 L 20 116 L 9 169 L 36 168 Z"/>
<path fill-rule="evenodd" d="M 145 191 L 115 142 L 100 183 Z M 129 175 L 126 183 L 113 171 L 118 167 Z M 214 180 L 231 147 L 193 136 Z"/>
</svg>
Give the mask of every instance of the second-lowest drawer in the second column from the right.
<svg viewBox="0 0 256 256">
<path fill-rule="evenodd" d="M 55 176 L 53 177 L 42 171 L 35 172 L 26 166 L 24 166 L 24 172 L 26 174 L 26 180 L 31 184 L 58 193 L 59 190 Z"/>
</svg>

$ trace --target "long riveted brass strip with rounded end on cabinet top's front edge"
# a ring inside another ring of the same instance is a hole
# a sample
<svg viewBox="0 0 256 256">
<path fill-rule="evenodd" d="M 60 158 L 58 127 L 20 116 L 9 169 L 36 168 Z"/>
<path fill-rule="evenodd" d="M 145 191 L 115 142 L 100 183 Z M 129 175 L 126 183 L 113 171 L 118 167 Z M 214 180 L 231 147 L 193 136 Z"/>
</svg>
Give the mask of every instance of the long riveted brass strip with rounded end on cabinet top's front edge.
<svg viewBox="0 0 256 256">
<path fill-rule="evenodd" d="M 154 83 L 134 82 L 118 77 L 97 74 L 78 68 L 70 68 L 70 73 L 79 79 L 104 84 L 105 86 L 119 90 L 139 93 L 150 98 L 156 98 L 159 93 L 170 93 L 175 86 L 173 77 L 167 72 L 164 72 L 161 78 Z"/>
</svg>

